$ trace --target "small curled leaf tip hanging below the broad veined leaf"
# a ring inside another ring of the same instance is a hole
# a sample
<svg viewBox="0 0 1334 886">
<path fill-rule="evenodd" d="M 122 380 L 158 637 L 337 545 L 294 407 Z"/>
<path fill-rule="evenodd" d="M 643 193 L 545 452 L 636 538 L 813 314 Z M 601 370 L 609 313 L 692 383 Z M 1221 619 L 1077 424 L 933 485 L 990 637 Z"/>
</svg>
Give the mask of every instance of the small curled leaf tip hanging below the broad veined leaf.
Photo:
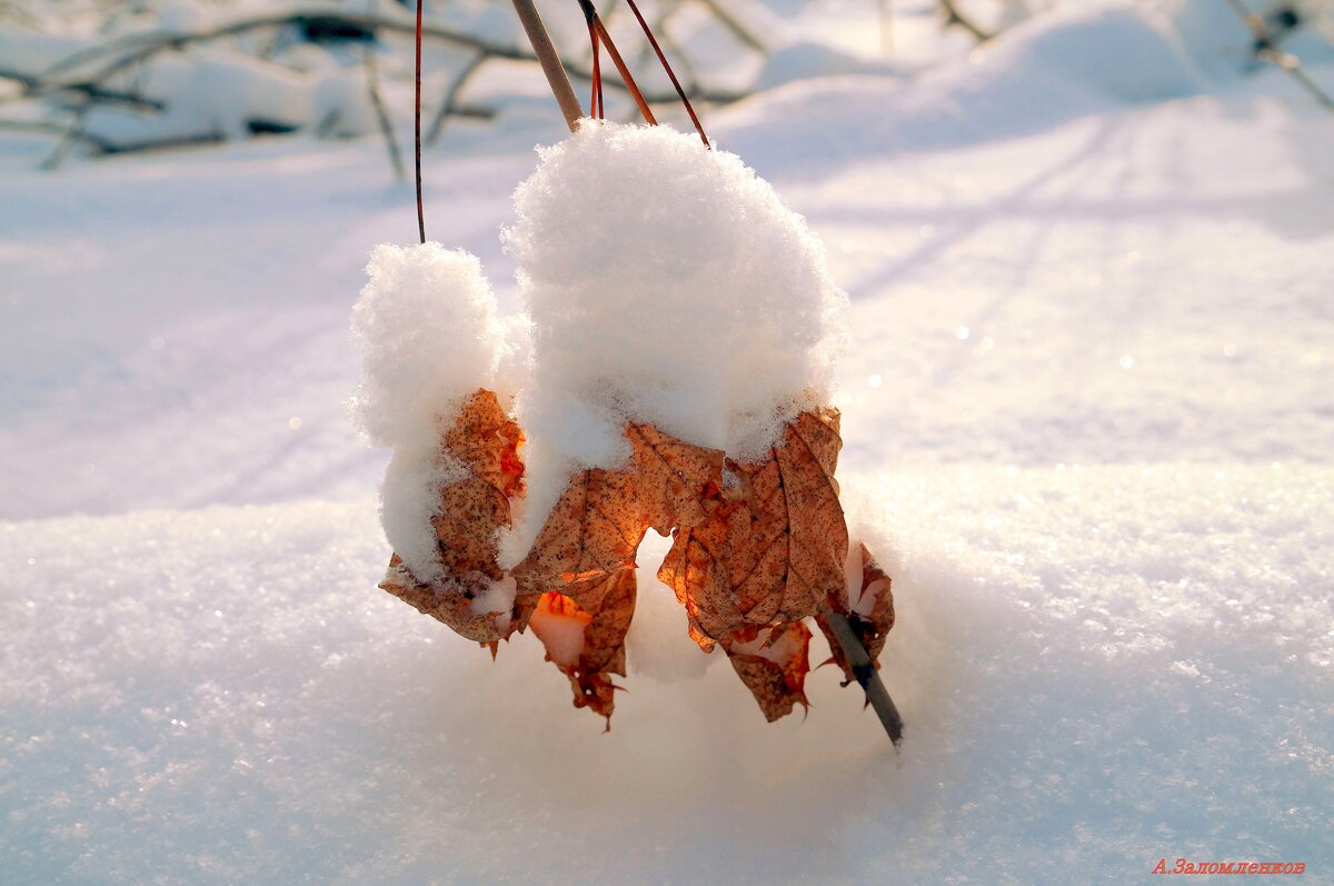
<svg viewBox="0 0 1334 886">
<path fill-rule="evenodd" d="M 791 714 L 796 705 L 808 706 L 810 644 L 811 631 L 800 622 L 763 628 L 746 626 L 723 640 L 732 669 L 768 722 Z"/>
</svg>

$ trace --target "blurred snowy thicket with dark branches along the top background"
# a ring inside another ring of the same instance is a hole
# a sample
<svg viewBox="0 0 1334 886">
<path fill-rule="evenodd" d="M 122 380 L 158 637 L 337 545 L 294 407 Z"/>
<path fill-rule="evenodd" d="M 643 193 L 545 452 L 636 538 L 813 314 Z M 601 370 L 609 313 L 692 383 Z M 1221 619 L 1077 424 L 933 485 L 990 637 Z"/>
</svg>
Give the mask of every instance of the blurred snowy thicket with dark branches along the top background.
<svg viewBox="0 0 1334 886">
<path fill-rule="evenodd" d="M 926 43 L 935 43 L 938 55 L 970 52 L 1030 19 L 1079 3 L 648 0 L 642 5 L 684 92 L 707 111 L 812 76 L 910 75 L 924 67 Z M 1329 92 L 1281 48 L 1289 33 L 1327 13 L 1331 4 L 1227 3 L 1250 29 L 1247 57 L 1277 64 L 1334 111 Z M 572 3 L 548 4 L 544 17 L 562 60 L 586 84 L 591 51 L 582 15 Z M 305 135 L 382 137 L 399 171 L 396 133 L 411 108 L 414 9 L 411 0 L 313 5 L 0 0 L 0 125 L 49 139 L 45 168 L 75 156 Z M 606 3 L 599 12 L 655 112 L 686 123 L 623 0 Z M 862 15 L 874 28 L 855 45 L 847 35 L 866 28 L 847 28 L 850 15 Z M 834 33 L 838 40 L 828 39 Z M 551 113 L 536 60 L 507 3 L 428 3 L 423 36 L 427 144 L 438 144 L 458 125 Z M 606 87 L 612 91 L 608 113 L 636 119 L 620 77 L 606 77 Z"/>
</svg>

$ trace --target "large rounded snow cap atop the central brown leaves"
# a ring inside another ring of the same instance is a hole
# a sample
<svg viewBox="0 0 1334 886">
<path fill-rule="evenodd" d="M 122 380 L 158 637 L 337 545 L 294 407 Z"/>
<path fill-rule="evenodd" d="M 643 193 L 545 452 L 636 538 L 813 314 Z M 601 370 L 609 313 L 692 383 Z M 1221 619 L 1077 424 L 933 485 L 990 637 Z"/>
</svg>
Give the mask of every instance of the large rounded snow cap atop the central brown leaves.
<svg viewBox="0 0 1334 886">
<path fill-rule="evenodd" d="M 595 121 L 539 153 L 503 234 L 534 323 L 518 547 L 570 470 L 628 456 L 627 420 L 763 451 L 794 408 L 828 402 L 847 336 L 819 239 L 738 156 Z"/>
</svg>

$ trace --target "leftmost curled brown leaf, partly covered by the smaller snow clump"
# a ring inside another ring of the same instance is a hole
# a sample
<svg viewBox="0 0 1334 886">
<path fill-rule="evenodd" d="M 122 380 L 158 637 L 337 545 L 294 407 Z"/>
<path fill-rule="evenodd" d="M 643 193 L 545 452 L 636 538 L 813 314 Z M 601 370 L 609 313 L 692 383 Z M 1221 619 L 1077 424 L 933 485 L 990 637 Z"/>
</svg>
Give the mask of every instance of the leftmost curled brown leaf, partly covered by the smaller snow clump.
<svg viewBox="0 0 1334 886">
<path fill-rule="evenodd" d="M 504 414 L 495 394 L 479 390 L 464 400 L 442 434 L 440 455 L 463 466 L 467 476 L 440 488 L 440 510 L 431 520 L 444 579 L 426 584 L 394 555 L 380 583 L 418 611 L 479 643 L 495 643 L 514 630 L 510 608 L 488 610 L 478 598 L 512 582 L 496 562 L 496 532 L 510 526 L 511 496 L 523 494 L 522 442 L 519 426 Z"/>
</svg>

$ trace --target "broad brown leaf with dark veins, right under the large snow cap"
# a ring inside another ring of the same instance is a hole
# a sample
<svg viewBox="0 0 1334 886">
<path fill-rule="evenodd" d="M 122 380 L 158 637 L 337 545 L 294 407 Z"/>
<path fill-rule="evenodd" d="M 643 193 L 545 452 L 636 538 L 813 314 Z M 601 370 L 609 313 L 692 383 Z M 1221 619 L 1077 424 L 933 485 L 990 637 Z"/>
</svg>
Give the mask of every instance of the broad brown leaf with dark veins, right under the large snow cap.
<svg viewBox="0 0 1334 886">
<path fill-rule="evenodd" d="M 738 484 L 680 526 L 658 572 L 708 650 L 746 624 L 798 622 L 822 604 L 846 608 L 847 526 L 834 468 L 838 410 L 802 412 L 768 458 L 728 462 Z"/>
</svg>

